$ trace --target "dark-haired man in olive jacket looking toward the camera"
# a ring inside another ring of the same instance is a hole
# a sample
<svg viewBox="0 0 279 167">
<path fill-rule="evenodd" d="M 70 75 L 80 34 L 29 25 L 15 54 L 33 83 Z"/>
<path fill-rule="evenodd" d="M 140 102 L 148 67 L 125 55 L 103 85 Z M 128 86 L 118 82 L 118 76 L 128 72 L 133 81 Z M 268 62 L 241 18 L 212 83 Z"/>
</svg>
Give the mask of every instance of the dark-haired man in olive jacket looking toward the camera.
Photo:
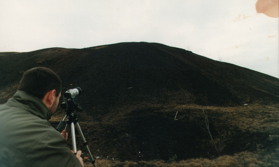
<svg viewBox="0 0 279 167">
<path fill-rule="evenodd" d="M 61 96 L 61 80 L 49 68 L 26 71 L 15 95 L 0 105 L 0 166 L 83 166 L 48 120 Z"/>
</svg>

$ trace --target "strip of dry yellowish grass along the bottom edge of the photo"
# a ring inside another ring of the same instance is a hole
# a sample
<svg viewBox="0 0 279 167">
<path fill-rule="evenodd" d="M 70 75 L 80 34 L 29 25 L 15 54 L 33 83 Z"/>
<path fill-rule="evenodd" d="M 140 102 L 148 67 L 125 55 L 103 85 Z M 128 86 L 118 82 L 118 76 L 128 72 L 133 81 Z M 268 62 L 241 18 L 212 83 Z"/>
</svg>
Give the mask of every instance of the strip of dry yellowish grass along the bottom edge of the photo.
<svg viewBox="0 0 279 167">
<path fill-rule="evenodd" d="M 85 167 L 92 167 L 92 164 L 85 163 Z M 256 167 L 256 166 L 279 166 L 279 160 L 276 153 L 262 156 L 260 152 L 240 152 L 230 155 L 224 155 L 216 159 L 188 159 L 179 162 L 167 163 L 165 161 L 125 161 L 120 162 L 111 159 L 97 159 L 97 167 Z"/>
</svg>

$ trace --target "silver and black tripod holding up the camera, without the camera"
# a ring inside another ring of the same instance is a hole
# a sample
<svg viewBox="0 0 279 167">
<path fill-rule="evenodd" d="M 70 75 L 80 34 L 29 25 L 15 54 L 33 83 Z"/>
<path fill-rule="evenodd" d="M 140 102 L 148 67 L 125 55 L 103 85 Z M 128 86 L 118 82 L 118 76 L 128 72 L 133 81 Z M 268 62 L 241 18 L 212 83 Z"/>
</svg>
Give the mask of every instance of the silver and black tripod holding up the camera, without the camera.
<svg viewBox="0 0 279 167">
<path fill-rule="evenodd" d="M 75 103 L 73 101 L 72 98 L 68 99 L 67 100 L 67 106 L 73 106 L 76 108 L 76 110 L 83 110 L 77 103 Z M 63 106 L 63 105 L 62 105 Z M 64 103 L 64 106 L 65 106 L 65 103 Z M 72 135 L 72 143 L 73 143 L 73 151 L 74 151 L 74 154 L 76 154 L 77 150 L 76 150 L 76 134 L 75 134 L 75 125 L 76 125 L 76 128 L 78 129 L 78 133 L 79 135 L 81 136 L 81 139 L 83 141 L 83 145 L 86 147 L 86 150 L 87 150 L 87 153 L 90 157 L 90 160 L 91 160 L 91 163 L 94 165 L 94 167 L 96 167 L 95 165 L 95 160 L 93 159 L 92 157 L 92 154 L 89 150 L 89 147 L 87 145 L 87 141 L 85 140 L 84 136 L 83 136 L 83 133 L 81 131 L 81 127 L 79 126 L 78 124 L 78 119 L 76 118 L 76 114 L 72 113 L 71 111 L 74 110 L 73 107 L 70 107 L 67 109 L 67 114 L 65 115 L 65 117 L 62 119 L 62 121 L 60 121 L 59 125 L 57 126 L 56 130 L 59 130 L 62 126 L 62 124 L 65 122 L 65 118 L 67 116 L 69 116 L 69 119 L 67 120 L 67 124 L 65 126 L 65 135 L 67 133 L 67 130 L 69 129 L 69 127 L 71 126 L 71 135 Z M 62 107 L 63 108 L 63 107 Z M 70 112 L 69 112 L 70 111 Z"/>
</svg>

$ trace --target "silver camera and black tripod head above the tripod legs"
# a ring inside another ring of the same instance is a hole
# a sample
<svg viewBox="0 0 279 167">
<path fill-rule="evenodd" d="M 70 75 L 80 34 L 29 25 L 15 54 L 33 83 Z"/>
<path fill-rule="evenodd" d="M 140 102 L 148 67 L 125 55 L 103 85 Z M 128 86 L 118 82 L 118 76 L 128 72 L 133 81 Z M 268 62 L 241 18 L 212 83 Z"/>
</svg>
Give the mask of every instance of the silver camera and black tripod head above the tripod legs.
<svg viewBox="0 0 279 167">
<path fill-rule="evenodd" d="M 83 108 L 77 103 L 77 96 L 81 94 L 81 88 L 76 87 L 74 89 L 69 89 L 64 94 L 64 102 L 61 103 L 61 108 L 66 111 L 69 116 L 74 110 L 82 112 Z"/>
</svg>

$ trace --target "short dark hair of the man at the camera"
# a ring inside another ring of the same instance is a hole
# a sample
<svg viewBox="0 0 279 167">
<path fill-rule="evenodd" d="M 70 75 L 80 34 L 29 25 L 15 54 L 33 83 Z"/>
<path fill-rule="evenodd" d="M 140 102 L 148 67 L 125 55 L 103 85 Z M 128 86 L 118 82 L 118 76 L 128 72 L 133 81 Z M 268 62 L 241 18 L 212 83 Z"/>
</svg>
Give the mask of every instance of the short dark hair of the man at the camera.
<svg viewBox="0 0 279 167">
<path fill-rule="evenodd" d="M 61 85 L 61 79 L 51 69 L 36 67 L 23 74 L 17 90 L 22 90 L 42 100 L 44 95 L 53 89 L 56 90 L 55 96 L 58 97 L 62 89 Z"/>
</svg>

